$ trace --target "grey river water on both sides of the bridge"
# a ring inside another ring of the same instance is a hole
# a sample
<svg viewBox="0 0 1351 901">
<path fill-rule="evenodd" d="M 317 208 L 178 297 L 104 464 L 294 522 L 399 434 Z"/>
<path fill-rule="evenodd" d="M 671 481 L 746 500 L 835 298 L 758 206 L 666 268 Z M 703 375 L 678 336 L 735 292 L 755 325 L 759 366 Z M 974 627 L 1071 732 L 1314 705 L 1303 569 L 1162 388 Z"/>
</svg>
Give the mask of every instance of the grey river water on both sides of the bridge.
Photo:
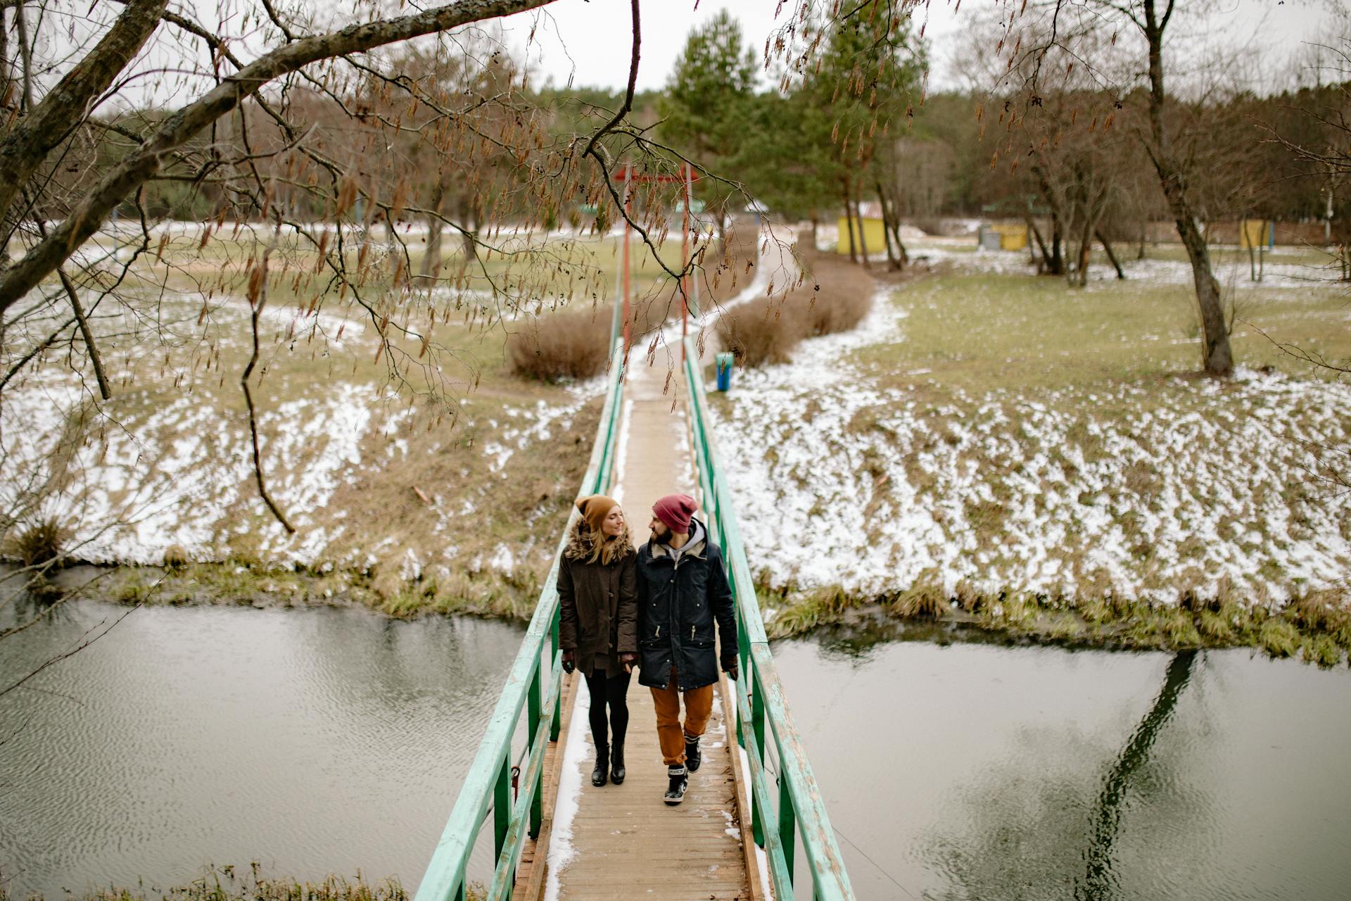
<svg viewBox="0 0 1351 901">
<path fill-rule="evenodd" d="M 3 684 L 127 609 L 0 642 Z M 411 890 L 521 634 L 136 609 L 0 697 L 0 878 L 57 898 L 259 860 Z M 775 644 L 861 898 L 1347 897 L 1346 666 L 905 638 Z"/>
</svg>

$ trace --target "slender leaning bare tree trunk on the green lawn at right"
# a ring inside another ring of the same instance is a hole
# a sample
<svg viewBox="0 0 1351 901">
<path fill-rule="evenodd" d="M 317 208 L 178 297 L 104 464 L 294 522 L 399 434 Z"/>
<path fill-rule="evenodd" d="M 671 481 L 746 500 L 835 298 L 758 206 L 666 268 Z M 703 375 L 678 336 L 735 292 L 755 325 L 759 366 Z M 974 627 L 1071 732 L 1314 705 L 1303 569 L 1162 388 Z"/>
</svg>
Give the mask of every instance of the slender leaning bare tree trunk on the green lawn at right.
<svg viewBox="0 0 1351 901">
<path fill-rule="evenodd" d="M 1182 246 L 1186 247 L 1192 263 L 1192 281 L 1196 285 L 1196 303 L 1201 313 L 1201 365 L 1208 376 L 1229 377 L 1233 374 L 1233 351 L 1229 349 L 1229 332 L 1224 321 L 1224 304 L 1220 299 L 1220 282 L 1210 272 L 1210 253 L 1205 238 L 1196 226 L 1196 213 L 1186 193 L 1186 173 L 1173 155 L 1173 146 L 1163 124 L 1163 30 L 1173 12 L 1171 3 L 1161 20 L 1154 9 L 1155 0 L 1144 0 L 1144 38 L 1150 46 L 1150 130 L 1154 135 L 1154 168 L 1159 173 L 1163 196 L 1177 222 Z"/>
</svg>

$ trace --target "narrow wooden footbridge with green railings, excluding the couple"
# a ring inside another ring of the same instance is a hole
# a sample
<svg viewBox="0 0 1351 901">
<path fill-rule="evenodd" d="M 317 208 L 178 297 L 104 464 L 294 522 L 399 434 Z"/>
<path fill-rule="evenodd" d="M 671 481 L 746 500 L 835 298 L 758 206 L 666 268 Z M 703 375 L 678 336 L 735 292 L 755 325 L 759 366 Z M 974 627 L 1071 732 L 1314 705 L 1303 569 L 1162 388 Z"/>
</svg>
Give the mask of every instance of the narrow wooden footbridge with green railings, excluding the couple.
<svg viewBox="0 0 1351 901">
<path fill-rule="evenodd" d="M 627 253 L 624 259 L 627 323 Z M 765 636 L 708 413 L 700 349 L 693 336 L 677 336 L 673 328 L 661 350 L 678 349 L 680 361 L 673 353 L 650 361 L 642 349 L 630 354 L 627 331 L 623 339 L 619 331 L 616 326 L 605 401 L 578 496 L 619 500 L 635 539 L 658 497 L 684 492 L 697 498 L 698 515 L 724 550 L 740 678 L 724 675 L 717 686 L 704 763 L 690 774 L 680 806 L 662 800 L 666 767 L 643 688 L 628 692 L 628 778 L 621 786 L 590 785 L 584 778 L 594 755 L 588 693 L 578 674 L 562 671 L 558 647 L 565 528 L 415 901 L 851 900 L 835 832 Z M 684 335 L 684 319 L 680 331 Z M 670 378 L 676 366 L 681 377 Z"/>
</svg>

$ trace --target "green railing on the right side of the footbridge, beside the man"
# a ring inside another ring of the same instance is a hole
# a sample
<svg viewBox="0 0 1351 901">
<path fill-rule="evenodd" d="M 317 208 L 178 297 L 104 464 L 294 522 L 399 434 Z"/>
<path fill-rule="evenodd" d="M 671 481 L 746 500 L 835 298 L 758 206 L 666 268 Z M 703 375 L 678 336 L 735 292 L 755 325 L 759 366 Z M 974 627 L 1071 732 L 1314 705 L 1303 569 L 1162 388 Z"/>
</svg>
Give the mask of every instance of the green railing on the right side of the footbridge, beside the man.
<svg viewBox="0 0 1351 901">
<path fill-rule="evenodd" d="M 685 340 L 684 367 L 704 512 L 713 539 L 723 547 L 727 577 L 736 598 L 736 635 L 740 646 L 736 733 L 750 761 L 753 835 L 755 843 L 765 848 L 769 879 L 780 901 L 796 897 L 793 865 L 798 839 L 812 873 L 813 897 L 823 901 L 850 900 L 854 889 L 850 887 L 844 860 L 835 843 L 835 831 L 821 801 L 821 790 L 812 774 L 812 765 L 807 761 L 802 738 L 793 725 L 774 655 L 765 638 L 765 621 L 761 619 L 755 582 L 746 562 L 746 547 L 736 525 L 727 482 L 717 465 L 704 376 L 692 338 Z M 770 788 L 765 761 L 766 723 L 778 756 L 777 789 Z"/>
</svg>

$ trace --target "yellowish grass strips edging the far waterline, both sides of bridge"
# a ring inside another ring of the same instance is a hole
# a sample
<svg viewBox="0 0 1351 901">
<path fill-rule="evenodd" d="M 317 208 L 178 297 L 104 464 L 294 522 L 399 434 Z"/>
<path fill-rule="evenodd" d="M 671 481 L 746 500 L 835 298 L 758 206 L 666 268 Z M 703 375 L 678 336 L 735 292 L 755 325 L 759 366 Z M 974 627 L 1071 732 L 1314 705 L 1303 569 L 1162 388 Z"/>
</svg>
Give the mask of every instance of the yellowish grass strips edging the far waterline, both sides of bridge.
<svg viewBox="0 0 1351 901">
<path fill-rule="evenodd" d="M 238 561 L 172 567 L 74 567 L 55 589 L 124 605 L 361 608 L 392 619 L 470 615 L 526 623 L 547 570 L 463 573 L 454 584 L 426 578 L 384 594 L 367 573 L 278 570 Z M 470 590 L 465 592 L 465 586 Z M 1300 596 L 1283 607 L 1188 596 L 1163 605 L 1117 597 L 1067 600 L 1017 592 L 985 593 L 939 584 L 875 594 L 839 586 L 812 590 L 758 586 L 771 639 L 804 638 L 859 624 L 898 628 L 938 643 L 1046 644 L 1074 648 L 1178 651 L 1255 648 L 1319 667 L 1351 665 L 1351 609 L 1343 592 Z"/>
</svg>

